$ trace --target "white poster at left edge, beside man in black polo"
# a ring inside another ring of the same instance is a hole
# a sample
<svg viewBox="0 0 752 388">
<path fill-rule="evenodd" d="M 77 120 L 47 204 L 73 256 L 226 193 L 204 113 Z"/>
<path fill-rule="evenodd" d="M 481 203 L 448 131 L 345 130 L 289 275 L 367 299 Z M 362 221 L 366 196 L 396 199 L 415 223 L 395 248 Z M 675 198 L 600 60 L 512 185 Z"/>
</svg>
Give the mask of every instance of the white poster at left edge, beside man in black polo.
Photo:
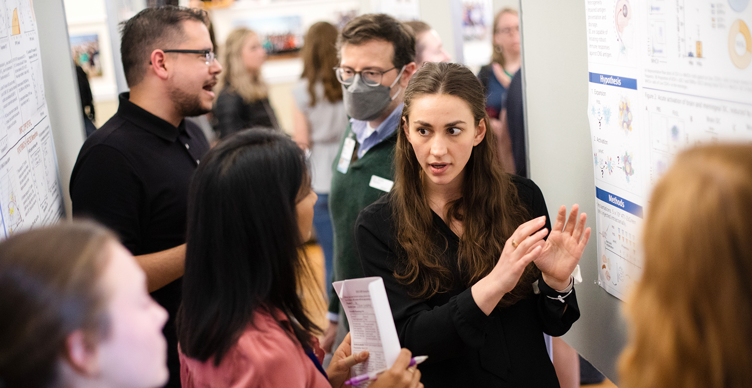
<svg viewBox="0 0 752 388">
<path fill-rule="evenodd" d="M 64 207 L 31 0 L 0 2 L 0 239 Z"/>
</svg>

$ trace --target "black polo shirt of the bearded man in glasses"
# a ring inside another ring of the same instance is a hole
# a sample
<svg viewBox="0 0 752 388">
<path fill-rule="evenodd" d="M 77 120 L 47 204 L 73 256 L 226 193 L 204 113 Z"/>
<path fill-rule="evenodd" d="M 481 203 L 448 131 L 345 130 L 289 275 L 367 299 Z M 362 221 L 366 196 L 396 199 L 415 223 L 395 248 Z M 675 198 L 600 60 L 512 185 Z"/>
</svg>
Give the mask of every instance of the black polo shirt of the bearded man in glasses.
<svg viewBox="0 0 752 388">
<path fill-rule="evenodd" d="M 120 235 L 134 255 L 183 244 L 188 186 L 209 150 L 201 129 L 183 120 L 174 127 L 120 95 L 120 107 L 83 143 L 71 174 L 73 215 L 93 218 Z M 152 293 L 170 314 L 168 386 L 180 386 L 174 317 L 180 279 Z M 174 385 L 177 384 L 177 385 Z"/>
</svg>

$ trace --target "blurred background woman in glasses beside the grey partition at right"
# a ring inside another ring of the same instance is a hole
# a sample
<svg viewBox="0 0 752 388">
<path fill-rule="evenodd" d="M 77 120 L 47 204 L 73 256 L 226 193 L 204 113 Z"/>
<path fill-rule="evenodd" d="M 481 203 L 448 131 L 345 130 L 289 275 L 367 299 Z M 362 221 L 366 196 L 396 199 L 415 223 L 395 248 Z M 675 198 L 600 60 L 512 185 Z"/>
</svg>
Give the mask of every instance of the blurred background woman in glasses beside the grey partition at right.
<svg viewBox="0 0 752 388">
<path fill-rule="evenodd" d="M 520 19 L 517 11 L 504 8 L 493 18 L 493 56 L 478 71 L 486 93 L 486 111 L 495 120 L 504 108 L 507 88 L 520 68 Z"/>
</svg>

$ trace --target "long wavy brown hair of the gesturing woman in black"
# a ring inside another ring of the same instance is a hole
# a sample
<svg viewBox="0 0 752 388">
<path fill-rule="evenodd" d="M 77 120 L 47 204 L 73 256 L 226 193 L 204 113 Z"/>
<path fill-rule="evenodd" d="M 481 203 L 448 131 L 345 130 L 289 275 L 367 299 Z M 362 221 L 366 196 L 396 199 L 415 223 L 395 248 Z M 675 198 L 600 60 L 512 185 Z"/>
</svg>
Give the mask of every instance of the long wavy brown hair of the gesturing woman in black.
<svg viewBox="0 0 752 388">
<path fill-rule="evenodd" d="M 483 87 L 475 74 L 455 63 L 426 63 L 412 77 L 405 90 L 405 108 L 401 123 L 409 123 L 411 107 L 424 95 L 453 95 L 467 102 L 475 117 L 475 126 L 486 114 Z M 462 197 L 447 204 L 447 223 L 462 222 L 459 237 L 459 279 L 454 279 L 449 263 L 443 258 L 445 247 L 438 247 L 433 228 L 431 208 L 423 190 L 423 168 L 408 141 L 405 130 L 398 130 L 395 150 L 395 183 L 393 212 L 397 241 L 405 249 L 395 276 L 414 288 L 414 297 L 429 298 L 446 292 L 456 281 L 472 286 L 493 269 L 505 241 L 529 217 L 520 204 L 511 175 L 504 172 L 496 156 L 496 138 L 486 131 L 465 165 Z M 502 298 L 499 305 L 508 306 L 532 293 L 532 282 L 540 274 L 532 263 L 525 269 L 517 286 Z"/>
</svg>

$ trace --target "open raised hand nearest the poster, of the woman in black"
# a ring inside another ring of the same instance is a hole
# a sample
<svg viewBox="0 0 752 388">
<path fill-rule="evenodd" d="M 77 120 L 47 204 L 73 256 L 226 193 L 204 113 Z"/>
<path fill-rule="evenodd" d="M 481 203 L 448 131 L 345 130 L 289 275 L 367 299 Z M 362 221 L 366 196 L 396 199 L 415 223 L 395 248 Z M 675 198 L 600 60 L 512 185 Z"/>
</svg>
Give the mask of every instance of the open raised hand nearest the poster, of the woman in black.
<svg viewBox="0 0 752 388">
<path fill-rule="evenodd" d="M 541 254 L 535 259 L 535 265 L 543 273 L 543 281 L 553 289 L 565 289 L 569 286 L 569 275 L 575 270 L 582 252 L 590 238 L 590 228 L 585 229 L 587 214 L 580 214 L 579 206 L 572 205 L 569 220 L 566 206 L 559 208 L 556 223 L 553 225 Z"/>
</svg>

